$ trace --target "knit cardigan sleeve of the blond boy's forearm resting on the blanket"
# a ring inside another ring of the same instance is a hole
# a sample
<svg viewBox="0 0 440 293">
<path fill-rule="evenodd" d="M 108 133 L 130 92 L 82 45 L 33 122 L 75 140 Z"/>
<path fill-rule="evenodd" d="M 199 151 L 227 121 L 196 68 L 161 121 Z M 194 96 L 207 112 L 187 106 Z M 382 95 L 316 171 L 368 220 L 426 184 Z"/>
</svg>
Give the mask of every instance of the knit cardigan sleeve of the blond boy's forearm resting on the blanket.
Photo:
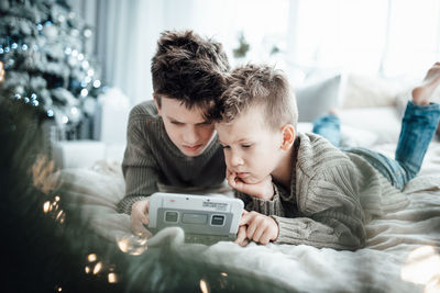
<svg viewBox="0 0 440 293">
<path fill-rule="evenodd" d="M 327 168 L 319 178 L 304 178 L 297 192 L 301 217 L 273 215 L 275 243 L 355 250 L 364 246 L 364 213 L 359 199 L 362 177 L 349 164 Z"/>
</svg>

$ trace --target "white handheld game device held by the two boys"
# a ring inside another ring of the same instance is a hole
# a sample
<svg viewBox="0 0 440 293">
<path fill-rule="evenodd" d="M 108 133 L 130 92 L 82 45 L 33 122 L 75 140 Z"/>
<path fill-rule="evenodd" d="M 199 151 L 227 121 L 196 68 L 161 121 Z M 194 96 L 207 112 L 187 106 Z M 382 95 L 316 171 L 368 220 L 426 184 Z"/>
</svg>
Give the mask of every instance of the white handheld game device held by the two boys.
<svg viewBox="0 0 440 293">
<path fill-rule="evenodd" d="M 150 196 L 147 229 L 155 234 L 178 226 L 186 236 L 237 238 L 243 202 L 222 194 L 195 195 L 156 192 Z"/>
</svg>

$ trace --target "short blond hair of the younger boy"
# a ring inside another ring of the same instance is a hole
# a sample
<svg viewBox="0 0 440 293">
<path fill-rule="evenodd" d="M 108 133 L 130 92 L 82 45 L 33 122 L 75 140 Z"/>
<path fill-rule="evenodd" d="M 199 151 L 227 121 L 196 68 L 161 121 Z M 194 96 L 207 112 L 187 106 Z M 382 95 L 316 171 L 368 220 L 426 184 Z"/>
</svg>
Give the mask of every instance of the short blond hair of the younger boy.
<svg viewBox="0 0 440 293">
<path fill-rule="evenodd" d="M 251 106 L 263 106 L 268 126 L 285 124 L 296 128 L 296 98 L 284 72 L 268 65 L 248 64 L 235 68 L 227 79 L 228 89 L 211 113 L 216 122 L 231 122 Z"/>
</svg>

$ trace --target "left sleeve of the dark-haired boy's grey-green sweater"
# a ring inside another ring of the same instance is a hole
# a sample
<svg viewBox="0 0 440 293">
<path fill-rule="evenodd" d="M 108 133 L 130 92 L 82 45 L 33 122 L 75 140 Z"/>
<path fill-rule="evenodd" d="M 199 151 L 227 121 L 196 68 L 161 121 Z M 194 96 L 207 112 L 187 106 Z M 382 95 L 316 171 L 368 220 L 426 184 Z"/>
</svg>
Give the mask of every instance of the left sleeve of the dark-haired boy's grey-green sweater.
<svg viewBox="0 0 440 293">
<path fill-rule="evenodd" d="M 127 148 L 122 161 L 125 179 L 125 196 L 118 203 L 120 213 L 131 214 L 132 205 L 157 191 L 158 168 L 147 144 L 147 121 L 136 116 L 135 109 L 130 113 Z"/>
</svg>

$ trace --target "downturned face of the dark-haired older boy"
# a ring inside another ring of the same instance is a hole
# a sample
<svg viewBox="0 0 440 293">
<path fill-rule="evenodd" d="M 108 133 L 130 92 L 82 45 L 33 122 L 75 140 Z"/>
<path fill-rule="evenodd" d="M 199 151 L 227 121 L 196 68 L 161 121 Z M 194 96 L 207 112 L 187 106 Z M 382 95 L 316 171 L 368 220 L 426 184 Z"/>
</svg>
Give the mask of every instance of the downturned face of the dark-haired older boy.
<svg viewBox="0 0 440 293">
<path fill-rule="evenodd" d="M 188 157 L 204 153 L 215 137 L 212 123 L 207 123 L 198 108 L 188 110 L 179 101 L 162 97 L 158 114 L 173 144 Z"/>
</svg>

